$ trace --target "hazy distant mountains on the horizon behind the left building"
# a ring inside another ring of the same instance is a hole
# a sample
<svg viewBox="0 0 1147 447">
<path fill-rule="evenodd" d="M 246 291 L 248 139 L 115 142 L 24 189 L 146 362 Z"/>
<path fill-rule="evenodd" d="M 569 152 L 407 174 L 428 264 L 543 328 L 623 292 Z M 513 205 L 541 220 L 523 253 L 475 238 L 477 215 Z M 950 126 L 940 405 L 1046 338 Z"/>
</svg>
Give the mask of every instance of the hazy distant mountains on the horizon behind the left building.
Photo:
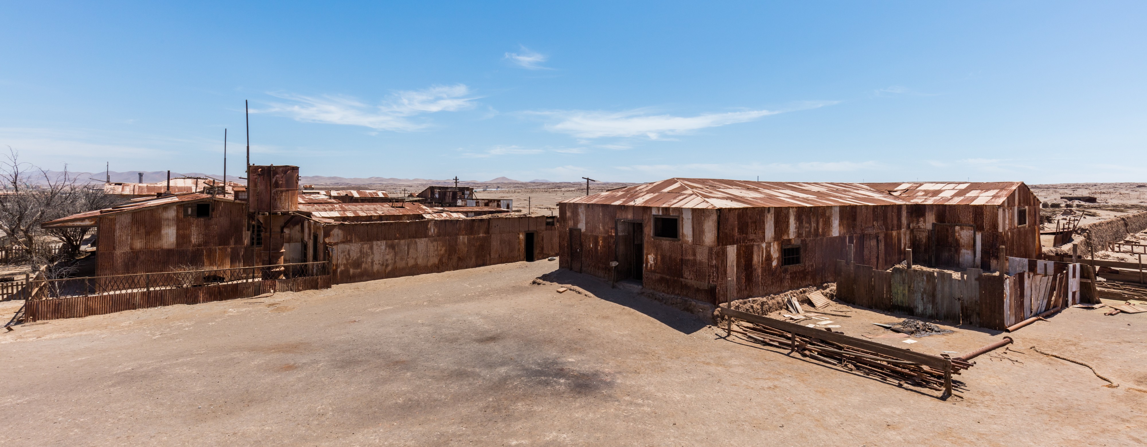
<svg viewBox="0 0 1147 447">
<path fill-rule="evenodd" d="M 69 172 L 68 174 L 79 179 L 80 182 L 91 181 L 104 181 L 110 180 L 112 182 L 123 183 L 136 183 L 141 181 L 140 173 L 143 174 L 143 183 L 155 183 L 167 179 L 166 171 L 125 171 L 125 172 Z M 48 177 L 53 180 L 58 179 L 63 175 L 60 171 L 48 171 Z M 180 177 L 205 177 L 211 179 L 221 179 L 220 174 L 204 174 L 202 172 L 174 172 L 172 171 L 171 178 Z M 42 175 L 36 172 L 34 175 L 29 177 L 31 183 L 44 183 Z M 242 183 L 244 180 L 240 179 L 237 175 L 227 174 L 228 181 L 236 181 Z M 344 177 L 325 177 L 325 175 L 303 175 L 299 181 L 304 185 L 377 185 L 377 183 L 397 183 L 397 185 L 454 185 L 454 180 L 431 180 L 431 179 L 393 179 L 387 177 L 369 177 L 369 178 L 344 178 Z M 536 183 L 544 182 L 549 183 L 549 180 L 535 179 L 529 182 L 523 182 L 521 180 L 514 180 L 505 177 L 499 177 L 490 181 L 477 181 L 477 180 L 463 180 L 459 183 Z"/>
</svg>

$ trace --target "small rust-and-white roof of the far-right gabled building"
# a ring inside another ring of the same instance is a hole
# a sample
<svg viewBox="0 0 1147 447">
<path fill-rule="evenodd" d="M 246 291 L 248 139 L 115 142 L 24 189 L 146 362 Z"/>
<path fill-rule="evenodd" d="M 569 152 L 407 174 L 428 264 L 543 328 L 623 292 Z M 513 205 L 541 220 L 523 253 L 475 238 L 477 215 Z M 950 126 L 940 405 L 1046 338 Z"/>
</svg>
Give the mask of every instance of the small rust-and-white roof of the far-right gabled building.
<svg viewBox="0 0 1147 447">
<path fill-rule="evenodd" d="M 1022 181 L 865 183 L 910 203 L 937 205 L 1000 205 Z"/>
</svg>

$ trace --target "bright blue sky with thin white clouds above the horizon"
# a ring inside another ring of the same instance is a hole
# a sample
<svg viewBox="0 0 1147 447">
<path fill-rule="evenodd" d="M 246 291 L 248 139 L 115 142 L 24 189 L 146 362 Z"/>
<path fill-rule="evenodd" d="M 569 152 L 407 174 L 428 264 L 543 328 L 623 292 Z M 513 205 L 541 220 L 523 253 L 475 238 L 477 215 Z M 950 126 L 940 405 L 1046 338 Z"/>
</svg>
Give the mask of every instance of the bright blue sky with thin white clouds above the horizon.
<svg viewBox="0 0 1147 447">
<path fill-rule="evenodd" d="M 45 168 L 1144 181 L 1147 3 L 7 2 Z"/>
</svg>

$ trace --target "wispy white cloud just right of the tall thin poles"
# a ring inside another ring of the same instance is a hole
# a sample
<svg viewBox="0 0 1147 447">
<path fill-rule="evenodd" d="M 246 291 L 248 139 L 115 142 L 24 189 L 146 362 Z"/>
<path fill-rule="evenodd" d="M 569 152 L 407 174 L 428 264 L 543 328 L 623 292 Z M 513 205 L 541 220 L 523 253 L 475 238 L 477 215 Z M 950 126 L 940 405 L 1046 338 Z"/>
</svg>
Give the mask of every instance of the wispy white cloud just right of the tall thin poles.
<svg viewBox="0 0 1147 447">
<path fill-rule="evenodd" d="M 306 96 L 284 93 L 271 93 L 271 95 L 291 102 L 272 103 L 267 109 L 251 111 L 286 116 L 304 123 L 343 124 L 379 131 L 406 132 L 429 126 L 428 123 L 414 121 L 409 119 L 411 117 L 470 109 L 477 99 L 470 93 L 469 87 L 462 84 L 395 92 L 377 105 L 369 105 L 343 95 Z"/>
</svg>

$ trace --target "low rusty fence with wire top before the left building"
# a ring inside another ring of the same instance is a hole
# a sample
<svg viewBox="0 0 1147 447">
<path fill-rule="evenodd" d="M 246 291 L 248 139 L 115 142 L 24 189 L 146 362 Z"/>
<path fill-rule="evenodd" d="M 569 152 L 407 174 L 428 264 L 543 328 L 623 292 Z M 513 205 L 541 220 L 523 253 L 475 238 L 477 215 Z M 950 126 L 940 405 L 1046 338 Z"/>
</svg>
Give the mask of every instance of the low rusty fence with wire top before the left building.
<svg viewBox="0 0 1147 447">
<path fill-rule="evenodd" d="M 330 288 L 330 262 L 32 281 L 26 321 Z"/>
</svg>

